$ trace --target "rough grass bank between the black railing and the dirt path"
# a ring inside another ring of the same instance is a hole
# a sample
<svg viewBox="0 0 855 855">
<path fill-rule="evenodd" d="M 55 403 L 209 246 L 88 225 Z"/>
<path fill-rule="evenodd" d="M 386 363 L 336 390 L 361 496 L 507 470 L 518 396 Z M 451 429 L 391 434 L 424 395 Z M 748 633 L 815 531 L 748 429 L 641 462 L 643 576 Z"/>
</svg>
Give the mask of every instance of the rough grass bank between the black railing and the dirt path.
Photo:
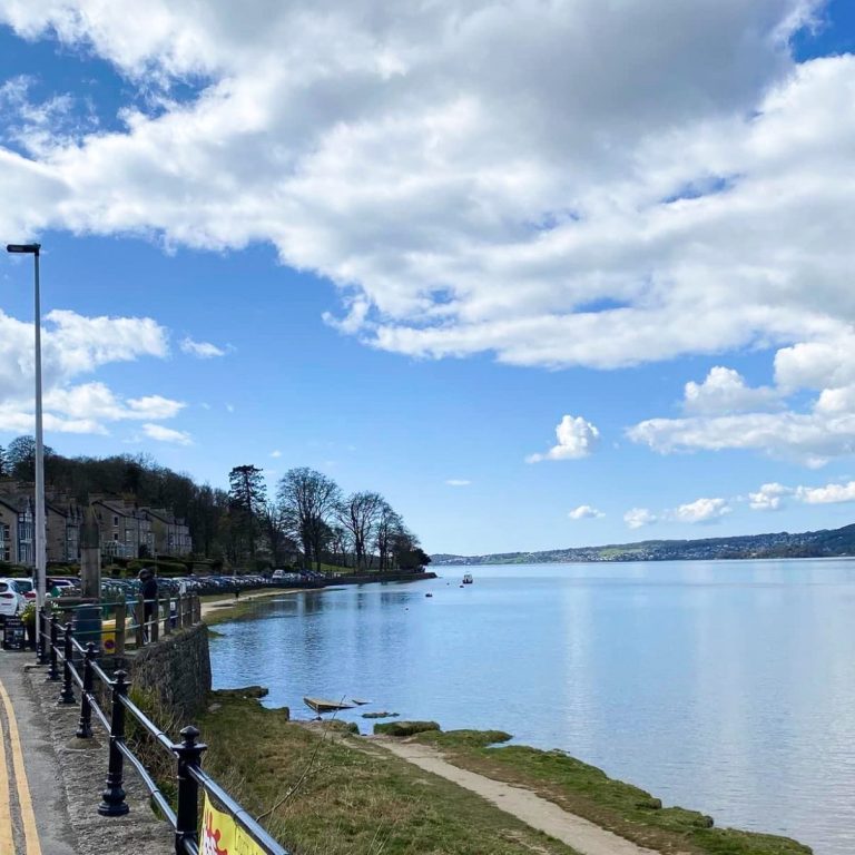
<svg viewBox="0 0 855 855">
<path fill-rule="evenodd" d="M 205 767 L 299 855 L 577 855 L 444 778 L 372 746 L 214 696 Z M 287 794 L 294 788 L 294 794 Z M 283 798 L 285 799 L 283 802 Z"/>
</svg>

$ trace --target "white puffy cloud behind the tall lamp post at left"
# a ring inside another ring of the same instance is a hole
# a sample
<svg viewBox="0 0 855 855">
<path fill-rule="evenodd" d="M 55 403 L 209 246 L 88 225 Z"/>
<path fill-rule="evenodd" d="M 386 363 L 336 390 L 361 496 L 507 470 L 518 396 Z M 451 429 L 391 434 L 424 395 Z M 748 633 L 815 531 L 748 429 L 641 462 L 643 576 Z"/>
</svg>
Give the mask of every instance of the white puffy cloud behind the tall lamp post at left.
<svg viewBox="0 0 855 855">
<path fill-rule="evenodd" d="M 102 382 L 75 382 L 104 365 L 167 355 L 167 332 L 151 318 L 48 313 L 42 331 L 45 429 L 102 434 L 105 422 L 174 417 L 185 406 L 180 401 L 125 399 Z M 32 374 L 32 324 L 0 309 L 0 430 L 33 430 Z"/>
</svg>

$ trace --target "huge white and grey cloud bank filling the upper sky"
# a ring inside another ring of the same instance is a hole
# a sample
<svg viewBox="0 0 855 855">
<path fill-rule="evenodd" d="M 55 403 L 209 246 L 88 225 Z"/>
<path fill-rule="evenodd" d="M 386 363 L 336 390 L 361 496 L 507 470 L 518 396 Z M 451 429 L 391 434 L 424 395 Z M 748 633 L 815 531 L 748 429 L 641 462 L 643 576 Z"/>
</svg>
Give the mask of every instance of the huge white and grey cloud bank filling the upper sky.
<svg viewBox="0 0 855 855">
<path fill-rule="evenodd" d="M 855 318 L 855 57 L 789 50 L 822 6 L 4 0 L 160 97 L 92 131 L 13 94 L 38 121 L 0 148 L 0 232 L 269 242 L 340 287 L 342 330 L 413 355 L 822 343 Z"/>
</svg>

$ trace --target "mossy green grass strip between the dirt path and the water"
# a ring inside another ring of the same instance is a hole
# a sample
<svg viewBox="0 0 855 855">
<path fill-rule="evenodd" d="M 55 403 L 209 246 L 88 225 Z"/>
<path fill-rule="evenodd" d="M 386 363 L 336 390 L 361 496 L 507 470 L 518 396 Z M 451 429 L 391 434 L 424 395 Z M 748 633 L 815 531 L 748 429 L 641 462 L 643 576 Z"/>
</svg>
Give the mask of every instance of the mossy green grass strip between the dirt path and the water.
<svg viewBox="0 0 855 855">
<path fill-rule="evenodd" d="M 643 789 L 609 778 L 563 751 L 525 746 L 489 747 L 500 731 L 451 730 L 415 737 L 456 766 L 528 787 L 570 813 L 664 855 L 809 855 L 787 837 L 715 828 L 696 810 L 662 807 Z"/>
</svg>

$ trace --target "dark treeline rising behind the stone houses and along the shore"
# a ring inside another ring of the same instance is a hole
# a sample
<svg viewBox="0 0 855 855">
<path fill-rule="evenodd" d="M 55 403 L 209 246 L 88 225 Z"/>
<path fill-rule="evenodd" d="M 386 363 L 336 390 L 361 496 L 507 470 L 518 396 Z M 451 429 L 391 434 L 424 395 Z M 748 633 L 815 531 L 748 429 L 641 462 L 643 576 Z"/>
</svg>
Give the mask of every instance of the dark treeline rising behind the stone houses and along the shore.
<svg viewBox="0 0 855 855">
<path fill-rule="evenodd" d="M 0 446 L 0 478 L 32 482 L 36 442 Z M 400 513 L 379 493 L 345 497 L 327 475 L 292 469 L 268 497 L 262 470 L 236 466 L 229 489 L 197 484 L 146 454 L 67 458 L 45 448 L 45 482 L 78 502 L 96 493 L 183 518 L 197 556 L 236 567 L 331 563 L 361 570 L 414 569 L 430 562 Z"/>
</svg>

